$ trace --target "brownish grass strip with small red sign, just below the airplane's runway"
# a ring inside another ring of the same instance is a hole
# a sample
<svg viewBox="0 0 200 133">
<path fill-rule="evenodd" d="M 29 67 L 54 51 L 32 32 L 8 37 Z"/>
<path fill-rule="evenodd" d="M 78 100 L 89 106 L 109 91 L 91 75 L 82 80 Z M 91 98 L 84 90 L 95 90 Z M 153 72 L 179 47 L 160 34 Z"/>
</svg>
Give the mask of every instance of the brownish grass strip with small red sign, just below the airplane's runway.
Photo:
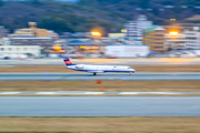
<svg viewBox="0 0 200 133">
<path fill-rule="evenodd" d="M 0 92 L 199 92 L 199 81 L 0 81 Z"/>
</svg>

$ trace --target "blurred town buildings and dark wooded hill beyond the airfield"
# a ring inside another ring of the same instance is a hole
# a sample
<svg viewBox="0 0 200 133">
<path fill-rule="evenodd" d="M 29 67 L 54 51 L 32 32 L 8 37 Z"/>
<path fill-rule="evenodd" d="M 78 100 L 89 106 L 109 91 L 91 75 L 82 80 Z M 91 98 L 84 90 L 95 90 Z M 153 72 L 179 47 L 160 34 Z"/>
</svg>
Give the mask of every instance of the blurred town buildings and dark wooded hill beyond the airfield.
<svg viewBox="0 0 200 133">
<path fill-rule="evenodd" d="M 0 59 L 198 58 L 198 0 L 0 1 Z"/>
</svg>

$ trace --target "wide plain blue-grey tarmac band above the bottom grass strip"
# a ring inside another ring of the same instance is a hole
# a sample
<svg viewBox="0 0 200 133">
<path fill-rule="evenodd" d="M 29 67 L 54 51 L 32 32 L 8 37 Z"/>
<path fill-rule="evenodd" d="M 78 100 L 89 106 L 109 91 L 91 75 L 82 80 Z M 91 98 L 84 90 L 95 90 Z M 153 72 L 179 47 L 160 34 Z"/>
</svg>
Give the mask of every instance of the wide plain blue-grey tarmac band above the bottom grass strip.
<svg viewBox="0 0 200 133">
<path fill-rule="evenodd" d="M 1 96 L 0 116 L 200 116 L 199 96 Z"/>
</svg>

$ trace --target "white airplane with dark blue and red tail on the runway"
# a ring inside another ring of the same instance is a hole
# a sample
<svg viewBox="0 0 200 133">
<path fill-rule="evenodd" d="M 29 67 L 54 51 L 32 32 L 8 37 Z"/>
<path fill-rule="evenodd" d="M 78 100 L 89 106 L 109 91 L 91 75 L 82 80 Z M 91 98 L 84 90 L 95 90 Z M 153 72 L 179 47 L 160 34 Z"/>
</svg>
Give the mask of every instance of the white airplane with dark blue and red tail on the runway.
<svg viewBox="0 0 200 133">
<path fill-rule="evenodd" d="M 136 71 L 130 66 L 126 65 L 91 65 L 91 64 L 73 64 L 69 58 L 63 59 L 67 69 L 76 70 L 76 71 L 84 71 L 89 73 L 104 73 L 104 72 L 124 72 L 124 73 L 134 73 Z"/>
</svg>

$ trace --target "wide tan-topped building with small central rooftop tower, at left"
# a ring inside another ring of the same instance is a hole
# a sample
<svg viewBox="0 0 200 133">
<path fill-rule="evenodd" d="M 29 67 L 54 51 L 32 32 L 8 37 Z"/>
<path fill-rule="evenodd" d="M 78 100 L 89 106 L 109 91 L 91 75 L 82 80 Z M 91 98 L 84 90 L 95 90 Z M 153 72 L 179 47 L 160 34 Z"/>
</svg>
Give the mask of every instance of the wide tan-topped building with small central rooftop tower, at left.
<svg viewBox="0 0 200 133">
<path fill-rule="evenodd" d="M 28 29 L 16 30 L 10 35 L 12 45 L 40 45 L 46 49 L 53 45 L 52 32 L 47 29 L 38 29 L 34 22 L 29 22 L 29 27 Z"/>
</svg>

